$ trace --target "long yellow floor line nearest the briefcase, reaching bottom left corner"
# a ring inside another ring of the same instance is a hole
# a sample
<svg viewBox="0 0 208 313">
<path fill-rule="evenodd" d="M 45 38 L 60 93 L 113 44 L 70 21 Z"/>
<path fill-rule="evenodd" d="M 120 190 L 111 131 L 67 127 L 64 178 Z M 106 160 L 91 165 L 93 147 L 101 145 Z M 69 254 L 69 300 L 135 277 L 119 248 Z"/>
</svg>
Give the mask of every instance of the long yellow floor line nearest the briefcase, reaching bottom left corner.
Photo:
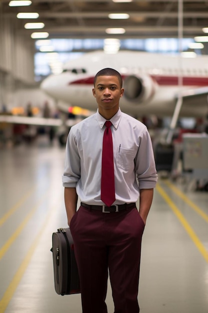
<svg viewBox="0 0 208 313">
<path fill-rule="evenodd" d="M 12 281 L 10 282 L 10 284 L 8 285 L 4 295 L 2 296 L 1 300 L 0 300 L 0 313 L 4 313 L 10 299 L 12 298 L 30 260 L 32 257 L 32 254 L 34 253 L 34 250 L 44 232 L 44 230 L 46 229 L 46 224 L 48 224 L 48 220 L 50 218 L 50 216 L 52 215 L 52 213 L 54 212 L 55 208 L 56 208 L 56 204 L 53 205 L 52 209 L 48 211 L 48 214 L 46 215 L 43 223 L 42 223 L 42 227 L 40 229 L 40 231 L 38 232 L 38 234 L 36 235 L 32 245 L 30 246 L 26 256 L 24 257 L 23 261 L 21 262 L 18 270 L 16 271 Z M 52 235 L 52 234 L 51 234 Z"/>
</svg>

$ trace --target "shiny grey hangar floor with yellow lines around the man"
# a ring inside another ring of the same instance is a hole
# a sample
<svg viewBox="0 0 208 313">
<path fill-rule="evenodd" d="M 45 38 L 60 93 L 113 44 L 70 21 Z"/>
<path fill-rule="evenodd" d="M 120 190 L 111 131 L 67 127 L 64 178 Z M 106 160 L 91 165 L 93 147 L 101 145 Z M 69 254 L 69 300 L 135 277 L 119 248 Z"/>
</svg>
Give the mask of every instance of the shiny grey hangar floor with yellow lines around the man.
<svg viewBox="0 0 208 313">
<path fill-rule="evenodd" d="M 80 294 L 54 290 L 51 236 L 67 227 L 63 163 L 64 149 L 44 137 L 0 147 L 0 313 L 82 312 Z M 160 178 L 155 190 L 143 236 L 142 313 L 208 313 L 208 192 L 185 187 Z M 113 313 L 110 285 L 106 302 Z"/>
</svg>

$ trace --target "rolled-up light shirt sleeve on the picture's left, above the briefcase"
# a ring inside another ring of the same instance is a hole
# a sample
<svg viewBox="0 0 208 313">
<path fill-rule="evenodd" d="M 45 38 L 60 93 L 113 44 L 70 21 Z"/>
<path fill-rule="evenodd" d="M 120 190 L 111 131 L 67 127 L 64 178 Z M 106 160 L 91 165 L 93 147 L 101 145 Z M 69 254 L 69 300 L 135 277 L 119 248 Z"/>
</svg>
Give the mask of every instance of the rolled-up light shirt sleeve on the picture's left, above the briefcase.
<svg viewBox="0 0 208 313">
<path fill-rule="evenodd" d="M 76 136 L 71 128 L 66 142 L 65 165 L 62 176 L 64 187 L 76 187 L 77 181 L 80 179 L 80 156 L 76 142 Z"/>
</svg>

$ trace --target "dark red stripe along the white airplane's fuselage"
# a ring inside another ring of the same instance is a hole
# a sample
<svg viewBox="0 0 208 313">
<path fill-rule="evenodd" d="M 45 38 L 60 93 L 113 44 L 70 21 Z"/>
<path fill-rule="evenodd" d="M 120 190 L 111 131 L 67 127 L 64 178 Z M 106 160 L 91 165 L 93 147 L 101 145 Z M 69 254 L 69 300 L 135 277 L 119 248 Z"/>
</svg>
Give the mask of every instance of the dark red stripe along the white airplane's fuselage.
<svg viewBox="0 0 208 313">
<path fill-rule="evenodd" d="M 126 76 L 123 76 L 123 79 Z M 159 85 L 178 85 L 178 77 L 177 76 L 160 76 L 160 75 L 151 75 L 151 77 L 157 81 Z M 88 77 L 84 79 L 77 79 L 69 84 L 93 84 L 94 76 Z M 183 85 L 188 86 L 208 86 L 208 77 L 183 77 Z"/>
</svg>

